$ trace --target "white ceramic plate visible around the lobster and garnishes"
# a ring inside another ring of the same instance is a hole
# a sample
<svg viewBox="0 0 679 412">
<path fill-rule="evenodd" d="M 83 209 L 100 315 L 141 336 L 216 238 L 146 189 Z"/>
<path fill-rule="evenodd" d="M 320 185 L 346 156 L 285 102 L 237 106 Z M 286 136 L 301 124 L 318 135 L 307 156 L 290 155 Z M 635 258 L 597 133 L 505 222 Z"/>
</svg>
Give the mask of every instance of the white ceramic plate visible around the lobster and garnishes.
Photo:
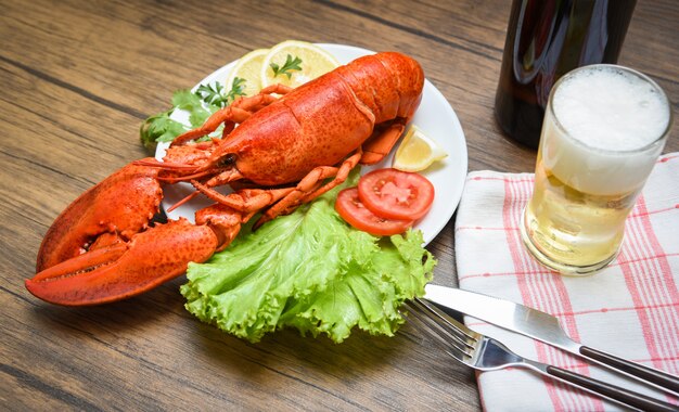
<svg viewBox="0 0 679 412">
<path fill-rule="evenodd" d="M 332 53 L 342 64 L 349 63 L 350 61 L 362 55 L 374 53 L 370 50 L 344 44 L 319 46 Z M 231 62 L 217 69 L 201 80 L 198 85 L 214 83 L 217 81 L 223 83 L 229 70 L 234 64 L 235 62 Z M 194 90 L 196 88 L 197 85 L 194 87 Z M 189 124 L 188 116 L 179 111 L 176 111 L 172 114 L 172 118 L 179 121 L 184 121 L 187 125 Z M 422 171 L 422 175 L 430 179 L 430 181 L 434 184 L 434 188 L 436 189 L 436 196 L 434 197 L 434 205 L 432 205 L 430 213 L 418 221 L 414 228 L 422 230 L 424 234 L 424 243 L 428 244 L 444 229 L 460 203 L 467 167 L 466 142 L 464 140 L 464 132 L 460 126 L 460 120 L 458 120 L 458 116 L 454 111 L 450 107 L 446 98 L 444 98 L 438 89 L 436 89 L 428 80 L 425 80 L 424 82 L 422 103 L 420 104 L 412 123 L 418 125 L 418 127 L 422 129 L 422 131 L 424 131 L 430 139 L 435 140 L 448 153 L 448 157 L 446 157 L 443 162 L 438 162 L 428 169 Z M 168 145 L 168 143 L 158 144 L 156 158 L 163 158 L 165 150 Z M 396 146 L 398 146 L 398 144 Z M 381 163 L 370 167 L 364 166 L 362 168 L 362 172 L 364 173 L 376 168 L 390 167 L 395 151 L 396 150 L 393 150 L 389 156 Z M 193 186 L 189 183 L 178 183 L 165 186 L 165 197 L 162 203 L 163 208 L 167 210 L 168 207 L 193 191 Z M 167 214 L 167 216 L 170 219 L 184 217 L 193 221 L 194 213 L 200 208 L 208 206 L 210 203 L 212 201 L 206 197 L 196 197 L 188 204 L 182 205 Z"/>
</svg>

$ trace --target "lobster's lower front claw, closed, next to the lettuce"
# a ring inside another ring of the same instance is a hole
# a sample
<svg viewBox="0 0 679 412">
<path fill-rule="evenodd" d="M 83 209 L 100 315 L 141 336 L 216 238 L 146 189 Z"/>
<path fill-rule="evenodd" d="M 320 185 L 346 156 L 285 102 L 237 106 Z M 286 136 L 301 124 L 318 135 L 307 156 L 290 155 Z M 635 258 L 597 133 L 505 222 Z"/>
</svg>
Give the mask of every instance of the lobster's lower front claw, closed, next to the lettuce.
<svg viewBox="0 0 679 412">
<path fill-rule="evenodd" d="M 26 280 L 36 297 L 56 305 L 111 302 L 144 293 L 207 260 L 218 246 L 215 232 L 185 219 L 157 224 L 131 237 L 52 266 Z"/>
</svg>

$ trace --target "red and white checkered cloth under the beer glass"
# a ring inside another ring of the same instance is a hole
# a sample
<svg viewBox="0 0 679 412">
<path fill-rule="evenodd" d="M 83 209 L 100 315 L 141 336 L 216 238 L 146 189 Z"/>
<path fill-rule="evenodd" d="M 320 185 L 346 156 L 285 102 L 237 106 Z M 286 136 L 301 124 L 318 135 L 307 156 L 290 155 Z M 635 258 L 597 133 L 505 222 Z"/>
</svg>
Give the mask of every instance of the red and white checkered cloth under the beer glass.
<svg viewBox="0 0 679 412">
<path fill-rule="evenodd" d="M 679 153 L 655 165 L 617 259 L 593 275 L 555 274 L 524 248 L 518 226 L 531 191 L 530 173 L 467 176 L 456 221 L 460 287 L 540 309 L 584 345 L 679 374 Z M 677 402 L 537 340 L 465 321 L 527 358 Z M 487 411 L 618 410 L 523 369 L 479 373 L 478 387 Z"/>
</svg>

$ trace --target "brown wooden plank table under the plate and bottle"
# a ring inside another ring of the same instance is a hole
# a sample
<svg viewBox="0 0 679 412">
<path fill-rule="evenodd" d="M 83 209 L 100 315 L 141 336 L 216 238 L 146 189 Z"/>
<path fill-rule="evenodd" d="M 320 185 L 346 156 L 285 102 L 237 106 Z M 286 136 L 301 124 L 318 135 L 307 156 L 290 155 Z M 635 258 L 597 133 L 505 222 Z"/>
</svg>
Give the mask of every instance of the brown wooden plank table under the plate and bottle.
<svg viewBox="0 0 679 412">
<path fill-rule="evenodd" d="M 457 410 L 481 408 L 474 374 L 406 335 L 342 345 L 276 333 L 251 345 L 183 309 L 183 276 L 77 309 L 24 288 L 38 246 L 78 194 L 144 156 L 138 128 L 171 92 L 285 39 L 399 50 L 456 110 L 470 170 L 531 171 L 494 96 L 510 4 L 410 1 L 0 0 L 0 409 Z M 679 101 L 679 3 L 640 0 L 622 64 Z M 675 127 L 666 152 L 679 150 Z M 453 220 L 428 246 L 454 285 Z"/>
</svg>

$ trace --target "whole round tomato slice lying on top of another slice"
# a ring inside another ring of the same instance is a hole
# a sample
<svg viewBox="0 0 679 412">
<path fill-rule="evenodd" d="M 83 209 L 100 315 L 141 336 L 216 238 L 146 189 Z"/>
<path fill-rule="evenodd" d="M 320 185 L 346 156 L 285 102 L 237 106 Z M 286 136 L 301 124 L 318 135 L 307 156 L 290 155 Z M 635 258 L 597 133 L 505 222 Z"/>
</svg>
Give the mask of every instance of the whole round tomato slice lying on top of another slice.
<svg viewBox="0 0 679 412">
<path fill-rule="evenodd" d="M 377 216 L 418 220 L 434 203 L 434 184 L 420 173 L 377 169 L 360 178 L 358 196 Z"/>
</svg>

